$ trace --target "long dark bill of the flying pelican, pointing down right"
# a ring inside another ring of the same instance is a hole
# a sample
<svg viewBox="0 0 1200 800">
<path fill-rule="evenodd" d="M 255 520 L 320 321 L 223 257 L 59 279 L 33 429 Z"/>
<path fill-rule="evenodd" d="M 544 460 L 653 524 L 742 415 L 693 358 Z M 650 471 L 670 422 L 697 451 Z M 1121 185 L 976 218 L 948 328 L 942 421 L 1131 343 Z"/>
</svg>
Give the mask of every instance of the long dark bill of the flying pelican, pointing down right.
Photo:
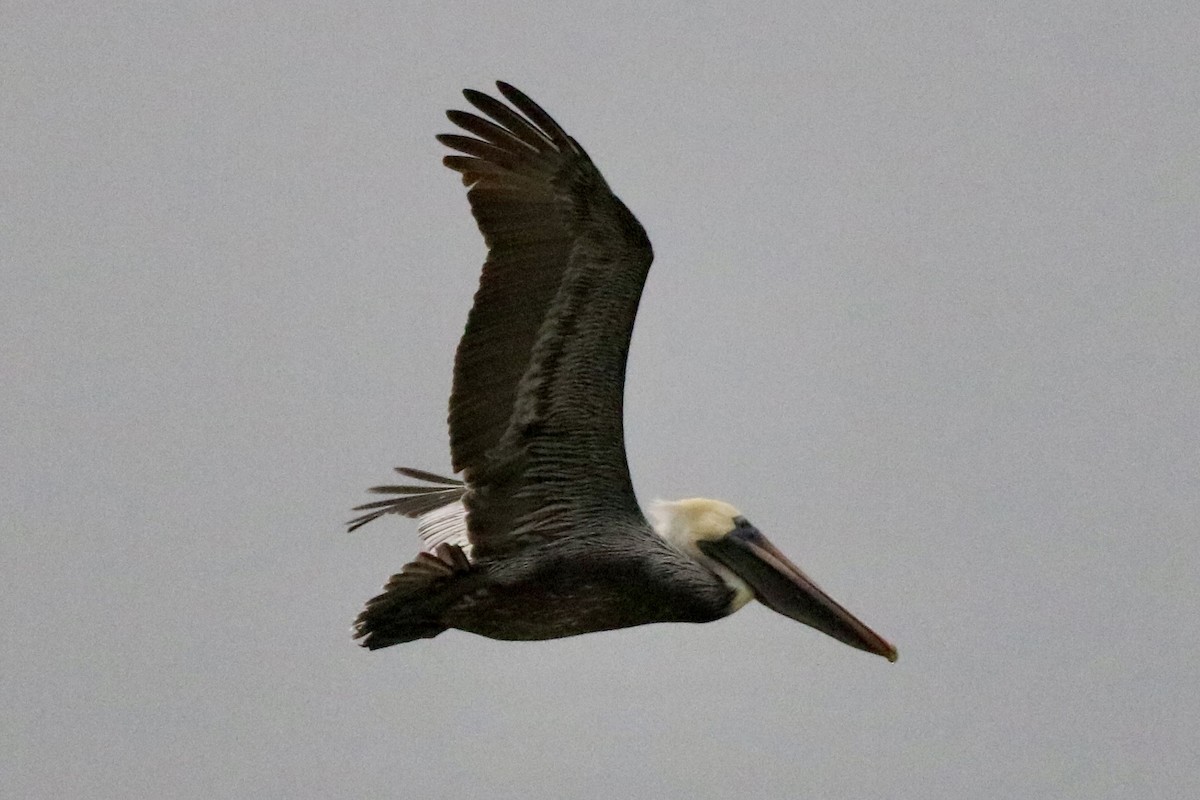
<svg viewBox="0 0 1200 800">
<path fill-rule="evenodd" d="M 852 648 L 895 661 L 899 655 L 883 637 L 866 627 L 787 560 L 766 536 L 742 525 L 727 536 L 697 542 L 700 548 L 750 584 L 761 603 Z"/>
</svg>

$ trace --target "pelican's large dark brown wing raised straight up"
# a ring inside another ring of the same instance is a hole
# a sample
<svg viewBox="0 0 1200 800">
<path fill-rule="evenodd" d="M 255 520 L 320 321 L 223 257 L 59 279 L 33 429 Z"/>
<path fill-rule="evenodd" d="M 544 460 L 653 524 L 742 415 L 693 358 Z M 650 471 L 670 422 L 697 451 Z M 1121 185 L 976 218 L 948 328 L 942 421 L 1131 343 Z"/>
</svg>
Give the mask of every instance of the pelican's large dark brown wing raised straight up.
<svg viewBox="0 0 1200 800">
<path fill-rule="evenodd" d="M 455 359 L 450 452 L 478 557 L 616 518 L 642 522 L 622 395 L 653 252 L 583 149 L 536 103 L 467 90 L 487 118 L 438 139 L 487 243 Z"/>
</svg>

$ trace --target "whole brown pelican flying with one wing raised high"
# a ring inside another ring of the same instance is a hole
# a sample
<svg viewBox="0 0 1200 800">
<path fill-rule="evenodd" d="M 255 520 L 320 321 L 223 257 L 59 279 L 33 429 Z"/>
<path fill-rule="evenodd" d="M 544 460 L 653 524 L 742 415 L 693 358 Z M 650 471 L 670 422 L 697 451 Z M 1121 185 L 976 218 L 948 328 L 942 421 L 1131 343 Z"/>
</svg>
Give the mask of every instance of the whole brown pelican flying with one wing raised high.
<svg viewBox="0 0 1200 800">
<path fill-rule="evenodd" d="M 648 622 L 707 622 L 751 599 L 846 644 L 896 651 L 824 594 L 733 506 L 638 509 L 622 395 L 653 253 L 580 144 L 529 97 L 467 90 L 484 116 L 443 134 L 487 242 L 455 357 L 450 456 L 463 480 L 397 468 L 414 485 L 361 505 L 350 530 L 419 518 L 424 549 L 366 604 L 372 650 L 448 628 L 552 639 Z"/>
</svg>

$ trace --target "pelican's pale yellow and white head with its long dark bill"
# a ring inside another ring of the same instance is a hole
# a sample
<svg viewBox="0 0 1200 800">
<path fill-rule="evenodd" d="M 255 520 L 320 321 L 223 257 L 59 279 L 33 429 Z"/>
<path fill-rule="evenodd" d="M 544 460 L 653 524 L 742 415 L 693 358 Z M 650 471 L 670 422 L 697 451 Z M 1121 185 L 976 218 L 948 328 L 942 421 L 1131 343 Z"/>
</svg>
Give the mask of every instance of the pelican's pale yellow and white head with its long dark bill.
<svg viewBox="0 0 1200 800">
<path fill-rule="evenodd" d="M 730 613 L 751 597 L 852 648 L 896 660 L 896 650 L 780 553 L 728 503 L 691 498 L 659 501 L 650 519 L 660 536 L 696 559 L 733 590 Z"/>
</svg>

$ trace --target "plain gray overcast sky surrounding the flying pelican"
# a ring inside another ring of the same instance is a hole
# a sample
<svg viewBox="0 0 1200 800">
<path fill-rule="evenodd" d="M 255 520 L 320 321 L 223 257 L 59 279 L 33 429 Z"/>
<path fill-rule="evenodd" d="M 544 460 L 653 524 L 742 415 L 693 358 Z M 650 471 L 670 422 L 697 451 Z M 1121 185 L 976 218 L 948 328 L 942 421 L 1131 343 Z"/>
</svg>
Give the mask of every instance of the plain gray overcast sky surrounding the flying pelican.
<svg viewBox="0 0 1200 800">
<path fill-rule="evenodd" d="M 109 5 L 0 12 L 0 795 L 1200 794 L 1194 2 Z M 349 507 L 448 467 L 433 134 L 496 78 L 654 241 L 643 503 L 899 663 L 761 606 L 350 642 L 418 540 Z"/>
</svg>

